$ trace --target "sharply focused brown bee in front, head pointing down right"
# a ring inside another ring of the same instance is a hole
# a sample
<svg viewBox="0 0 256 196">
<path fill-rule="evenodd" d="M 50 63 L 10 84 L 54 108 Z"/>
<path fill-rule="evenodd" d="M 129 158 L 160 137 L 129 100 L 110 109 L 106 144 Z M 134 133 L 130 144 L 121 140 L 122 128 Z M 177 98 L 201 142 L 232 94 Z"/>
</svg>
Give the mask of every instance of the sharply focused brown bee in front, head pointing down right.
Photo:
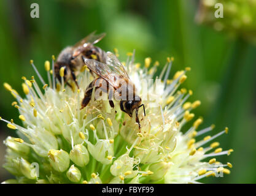
<svg viewBox="0 0 256 196">
<path fill-rule="evenodd" d="M 95 61 L 94 59 L 88 59 L 83 56 L 82 58 L 88 69 L 98 75 L 98 77 L 91 81 L 90 85 L 85 89 L 81 109 L 86 107 L 90 102 L 93 88 L 95 88 L 95 92 L 97 89 L 100 89 L 101 91 L 109 94 L 109 104 L 112 108 L 114 108 L 114 102 L 112 99 L 115 97 L 117 100 L 120 100 L 120 109 L 130 117 L 133 117 L 133 111 L 135 110 L 136 123 L 139 124 L 139 129 L 141 129 L 138 110 L 143 106 L 145 116 L 145 107 L 144 104 L 141 104 L 141 97 L 136 94 L 136 88 L 131 82 L 122 63 L 109 51 L 106 53 L 106 63 Z"/>
</svg>

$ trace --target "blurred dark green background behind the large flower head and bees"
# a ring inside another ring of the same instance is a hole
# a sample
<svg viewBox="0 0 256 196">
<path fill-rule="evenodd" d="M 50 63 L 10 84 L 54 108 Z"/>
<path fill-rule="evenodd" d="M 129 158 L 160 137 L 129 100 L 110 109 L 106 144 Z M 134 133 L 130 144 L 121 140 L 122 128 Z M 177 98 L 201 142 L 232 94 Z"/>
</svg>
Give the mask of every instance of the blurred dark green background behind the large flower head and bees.
<svg viewBox="0 0 256 196">
<path fill-rule="evenodd" d="M 33 2 L 39 4 L 39 18 L 30 17 Z M 230 36 L 225 31 L 215 31 L 211 25 L 196 23 L 198 2 L 0 1 L 0 84 L 7 82 L 22 92 L 21 77 L 35 75 L 30 59 L 44 73 L 45 60 L 95 30 L 107 34 L 98 46 L 109 51 L 118 48 L 121 61 L 133 49 L 141 64 L 150 56 L 163 65 L 167 56 L 174 56 L 171 76 L 177 70 L 192 67 L 183 86 L 194 92 L 190 101 L 202 102 L 195 111 L 196 117 L 204 118 L 201 128 L 214 123 L 212 134 L 225 126 L 230 128 L 230 133 L 218 141 L 223 149 L 233 148 L 235 152 L 217 160 L 231 162 L 231 174 L 203 182 L 256 183 L 256 47 L 236 34 L 236 29 Z M 17 110 L 10 105 L 14 98 L 3 86 L 0 95 L 0 116 L 18 122 Z M 2 141 L 7 135 L 15 136 L 15 132 L 1 122 L 1 165 L 5 154 Z M 1 168 L 0 181 L 9 177 Z"/>
</svg>

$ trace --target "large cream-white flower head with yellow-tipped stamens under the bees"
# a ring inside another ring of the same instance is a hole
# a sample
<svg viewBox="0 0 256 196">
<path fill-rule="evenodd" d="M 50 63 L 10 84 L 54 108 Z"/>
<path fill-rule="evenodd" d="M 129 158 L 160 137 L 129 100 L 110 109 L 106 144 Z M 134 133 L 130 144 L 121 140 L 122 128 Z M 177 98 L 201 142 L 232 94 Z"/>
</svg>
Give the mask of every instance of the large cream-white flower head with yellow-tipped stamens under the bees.
<svg viewBox="0 0 256 196">
<path fill-rule="evenodd" d="M 134 54 L 128 53 L 123 64 L 145 105 L 145 116 L 139 110 L 141 129 L 134 116 L 120 110 L 118 101 L 111 108 L 108 100 L 93 99 L 94 91 L 87 107 L 80 109 L 85 88 L 93 79 L 86 66 L 77 75 L 80 89 L 64 83 L 55 88 L 48 61 L 48 84 L 37 70 L 42 87 L 34 77 L 22 77 L 25 97 L 4 83 L 16 99 L 12 105 L 23 123 L 20 126 L 1 118 L 19 135 L 4 141 L 4 168 L 15 176 L 4 183 L 198 183 L 206 176 L 229 174 L 227 167 L 232 165 L 214 157 L 233 150 L 222 151 L 213 141 L 227 133 L 227 128 L 200 140 L 197 137 L 214 126 L 198 130 L 203 123 L 198 118 L 188 130 L 181 131 L 195 117 L 191 111 L 201 104 L 199 100 L 187 101 L 191 90 L 179 89 L 190 67 L 169 80 L 174 59 L 168 58 L 160 80 L 150 80 L 159 62 L 152 64 L 146 58 L 141 68 L 133 59 Z M 33 61 L 31 64 L 36 69 Z M 142 93 L 145 89 L 146 96 Z"/>
</svg>

